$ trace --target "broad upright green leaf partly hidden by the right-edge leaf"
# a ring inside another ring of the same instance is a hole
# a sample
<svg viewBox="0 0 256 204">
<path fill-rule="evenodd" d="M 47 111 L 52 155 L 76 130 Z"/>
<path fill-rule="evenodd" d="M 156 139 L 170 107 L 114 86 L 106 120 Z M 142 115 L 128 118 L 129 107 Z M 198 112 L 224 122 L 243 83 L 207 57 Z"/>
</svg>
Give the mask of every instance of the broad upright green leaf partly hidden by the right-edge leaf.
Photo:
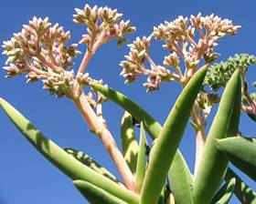
<svg viewBox="0 0 256 204">
<path fill-rule="evenodd" d="M 209 203 L 224 178 L 228 159 L 215 147 L 214 140 L 237 135 L 240 119 L 240 89 L 240 72 L 236 70 L 221 97 L 195 175 L 193 199 L 197 204 Z"/>
</svg>

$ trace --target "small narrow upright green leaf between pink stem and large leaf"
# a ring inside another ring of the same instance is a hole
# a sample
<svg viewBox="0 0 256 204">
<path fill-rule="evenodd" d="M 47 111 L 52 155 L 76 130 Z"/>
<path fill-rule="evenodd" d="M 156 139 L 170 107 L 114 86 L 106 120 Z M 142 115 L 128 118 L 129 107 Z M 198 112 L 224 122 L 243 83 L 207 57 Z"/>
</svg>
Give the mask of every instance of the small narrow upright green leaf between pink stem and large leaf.
<svg viewBox="0 0 256 204">
<path fill-rule="evenodd" d="M 146 166 L 146 143 L 145 143 L 145 133 L 144 133 L 144 124 L 141 122 L 141 131 L 140 131 L 140 146 L 139 154 L 137 160 L 136 168 L 136 177 L 135 177 L 135 192 L 138 194 L 141 193 L 141 189 L 144 182 L 145 175 L 145 166 Z"/>
</svg>

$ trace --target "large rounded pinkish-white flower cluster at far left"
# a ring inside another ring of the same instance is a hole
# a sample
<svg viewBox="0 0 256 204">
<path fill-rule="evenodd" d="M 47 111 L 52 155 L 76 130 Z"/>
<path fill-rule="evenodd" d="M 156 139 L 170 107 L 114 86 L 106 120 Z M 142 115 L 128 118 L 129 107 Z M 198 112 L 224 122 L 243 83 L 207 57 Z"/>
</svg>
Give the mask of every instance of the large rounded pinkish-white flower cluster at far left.
<svg viewBox="0 0 256 204">
<path fill-rule="evenodd" d="M 80 52 L 77 45 L 66 46 L 70 38 L 58 24 L 51 26 L 48 17 L 34 17 L 20 33 L 4 42 L 3 55 L 8 56 L 4 69 L 7 77 L 27 73 L 28 82 L 51 76 L 72 66 Z"/>
</svg>

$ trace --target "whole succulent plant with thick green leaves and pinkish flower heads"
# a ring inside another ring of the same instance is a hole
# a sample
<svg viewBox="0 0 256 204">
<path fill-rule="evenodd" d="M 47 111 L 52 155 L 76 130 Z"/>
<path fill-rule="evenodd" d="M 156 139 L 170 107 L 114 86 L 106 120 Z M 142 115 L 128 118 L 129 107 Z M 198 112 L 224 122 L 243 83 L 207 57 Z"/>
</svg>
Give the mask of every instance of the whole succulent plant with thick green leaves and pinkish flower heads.
<svg viewBox="0 0 256 204">
<path fill-rule="evenodd" d="M 231 162 L 256 180 L 256 139 L 243 137 L 239 127 L 240 111 L 256 121 L 256 95 L 249 93 L 246 80 L 256 57 L 240 54 L 216 63 L 219 54 L 214 51 L 220 39 L 234 36 L 240 26 L 217 15 L 178 16 L 128 45 L 130 51 L 120 63 L 126 84 L 147 76 L 147 92 L 158 90 L 164 82 L 183 87 L 161 126 L 129 97 L 85 72 L 100 46 L 112 40 L 123 46 L 125 36 L 135 27 L 109 7 L 85 5 L 75 11 L 74 23 L 87 26 L 79 42 L 87 47 L 80 66 L 72 63 L 81 53 L 78 44 L 69 45 L 69 32 L 59 24 L 52 25 L 48 18 L 34 17 L 4 42 L 6 77 L 26 75 L 27 83 L 42 81 L 50 95 L 72 100 L 91 133 L 106 148 L 121 179 L 86 153 L 60 148 L 1 99 L 7 116 L 37 151 L 72 179 L 81 195 L 93 204 L 224 204 L 233 195 L 241 203 L 256 203 L 256 193 L 229 168 Z M 150 54 L 153 40 L 163 44 L 168 53 L 160 65 Z M 123 107 L 122 150 L 102 115 L 107 100 Z M 218 111 L 207 131 L 214 105 Z M 178 150 L 188 122 L 195 130 L 195 169 L 188 168 Z M 135 127 L 140 128 L 139 137 L 135 137 Z"/>
</svg>

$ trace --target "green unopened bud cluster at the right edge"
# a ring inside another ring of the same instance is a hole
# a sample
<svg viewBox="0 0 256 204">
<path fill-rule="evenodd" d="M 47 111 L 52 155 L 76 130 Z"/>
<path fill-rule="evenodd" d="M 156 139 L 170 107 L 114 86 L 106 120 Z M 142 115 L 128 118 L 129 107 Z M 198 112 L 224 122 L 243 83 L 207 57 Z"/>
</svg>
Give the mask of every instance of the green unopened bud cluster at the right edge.
<svg viewBox="0 0 256 204">
<path fill-rule="evenodd" d="M 256 64 L 256 56 L 248 54 L 235 55 L 229 57 L 226 62 L 215 63 L 208 68 L 208 74 L 205 78 L 204 85 L 217 91 L 219 87 L 225 87 L 233 72 L 240 68 L 242 73 L 246 73 L 249 66 Z"/>
</svg>

